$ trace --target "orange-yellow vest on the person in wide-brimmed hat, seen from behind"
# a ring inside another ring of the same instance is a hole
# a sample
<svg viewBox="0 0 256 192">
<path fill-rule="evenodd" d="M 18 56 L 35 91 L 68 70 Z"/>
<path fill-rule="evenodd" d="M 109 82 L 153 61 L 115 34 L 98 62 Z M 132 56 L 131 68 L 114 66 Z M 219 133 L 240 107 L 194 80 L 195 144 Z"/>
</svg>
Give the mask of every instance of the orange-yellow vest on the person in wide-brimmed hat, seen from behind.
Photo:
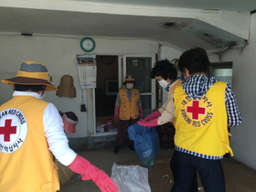
<svg viewBox="0 0 256 192">
<path fill-rule="evenodd" d="M 32 96 L 16 96 L 0 106 L 0 191 L 59 190 L 43 123 L 47 105 Z"/>
</svg>

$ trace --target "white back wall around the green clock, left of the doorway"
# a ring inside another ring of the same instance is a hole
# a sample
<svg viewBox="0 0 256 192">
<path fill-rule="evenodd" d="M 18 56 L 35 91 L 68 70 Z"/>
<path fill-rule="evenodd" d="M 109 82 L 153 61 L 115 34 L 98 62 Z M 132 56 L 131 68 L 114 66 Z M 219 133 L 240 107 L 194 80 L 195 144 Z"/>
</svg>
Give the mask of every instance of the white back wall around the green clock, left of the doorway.
<svg viewBox="0 0 256 192">
<path fill-rule="evenodd" d="M 58 86 L 63 75 L 73 77 L 77 91 L 76 98 L 56 96 L 56 91 L 46 93 L 45 100 L 54 103 L 62 112 L 75 112 L 79 117 L 77 133 L 67 133 L 68 137 L 85 137 L 93 135 L 93 101 L 91 90 L 84 90 L 84 101 L 88 112 L 80 112 L 81 90 L 78 69 L 74 62 L 75 55 L 84 54 L 80 49 L 82 37 L 24 37 L 19 34 L 0 35 L 0 77 L 1 80 L 16 76 L 23 61 L 33 60 L 45 64 L 52 83 Z M 158 43 L 145 40 L 94 38 L 96 48 L 92 54 L 155 54 Z M 108 71 L 111 72 L 111 71 Z M 0 83 L 0 104 L 12 97 L 13 87 Z M 91 134 L 92 133 L 92 134 Z"/>
</svg>

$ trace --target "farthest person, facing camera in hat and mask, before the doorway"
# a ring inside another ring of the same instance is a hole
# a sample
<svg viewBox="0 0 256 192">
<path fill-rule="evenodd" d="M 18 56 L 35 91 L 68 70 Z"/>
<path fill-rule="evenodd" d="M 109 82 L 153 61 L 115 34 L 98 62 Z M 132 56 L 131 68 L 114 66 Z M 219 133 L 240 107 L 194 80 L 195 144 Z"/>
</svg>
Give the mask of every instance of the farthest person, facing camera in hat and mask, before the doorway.
<svg viewBox="0 0 256 192">
<path fill-rule="evenodd" d="M 140 92 L 134 89 L 136 81 L 132 75 L 127 75 L 123 82 L 126 88 L 121 89 L 116 97 L 114 119 L 119 119 L 118 132 L 115 139 L 114 154 L 119 153 L 119 148 L 128 136 L 128 127 L 143 118 L 143 106 Z M 127 149 L 134 151 L 133 140 L 128 138 Z"/>
</svg>

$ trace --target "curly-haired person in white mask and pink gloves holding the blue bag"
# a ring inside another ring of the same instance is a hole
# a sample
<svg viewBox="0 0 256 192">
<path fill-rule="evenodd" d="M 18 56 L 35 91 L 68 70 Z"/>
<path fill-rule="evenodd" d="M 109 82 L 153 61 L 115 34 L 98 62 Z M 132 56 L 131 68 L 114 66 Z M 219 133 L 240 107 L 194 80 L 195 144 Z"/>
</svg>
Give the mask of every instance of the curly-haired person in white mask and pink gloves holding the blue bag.
<svg viewBox="0 0 256 192">
<path fill-rule="evenodd" d="M 177 77 L 177 71 L 173 63 L 167 59 L 159 60 L 155 63 L 154 68 L 151 70 L 151 78 L 157 80 L 159 85 L 168 91 L 168 99 L 165 103 L 155 112 L 147 115 L 144 119 L 141 119 L 138 124 L 152 127 L 159 126 L 165 123 L 174 121 L 173 108 L 173 92 L 176 86 L 181 84 L 180 78 Z M 174 177 L 174 182 L 178 178 L 178 162 L 176 158 L 176 151 L 174 152 L 170 161 L 170 167 Z M 197 192 L 197 172 L 194 172 L 193 181 L 188 192 Z"/>
</svg>

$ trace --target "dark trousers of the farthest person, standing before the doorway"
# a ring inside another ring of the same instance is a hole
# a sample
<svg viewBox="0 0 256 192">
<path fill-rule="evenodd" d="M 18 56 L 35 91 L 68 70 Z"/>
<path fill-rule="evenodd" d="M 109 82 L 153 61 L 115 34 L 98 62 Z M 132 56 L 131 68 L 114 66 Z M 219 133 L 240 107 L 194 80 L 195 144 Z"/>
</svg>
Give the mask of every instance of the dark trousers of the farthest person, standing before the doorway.
<svg viewBox="0 0 256 192">
<path fill-rule="evenodd" d="M 130 119 L 130 120 L 119 120 L 118 124 L 118 132 L 116 134 L 115 146 L 121 146 L 125 139 L 128 137 L 128 127 L 133 123 L 138 122 L 138 119 Z M 128 137 L 128 144 L 133 144 L 133 140 L 130 140 Z"/>
</svg>

